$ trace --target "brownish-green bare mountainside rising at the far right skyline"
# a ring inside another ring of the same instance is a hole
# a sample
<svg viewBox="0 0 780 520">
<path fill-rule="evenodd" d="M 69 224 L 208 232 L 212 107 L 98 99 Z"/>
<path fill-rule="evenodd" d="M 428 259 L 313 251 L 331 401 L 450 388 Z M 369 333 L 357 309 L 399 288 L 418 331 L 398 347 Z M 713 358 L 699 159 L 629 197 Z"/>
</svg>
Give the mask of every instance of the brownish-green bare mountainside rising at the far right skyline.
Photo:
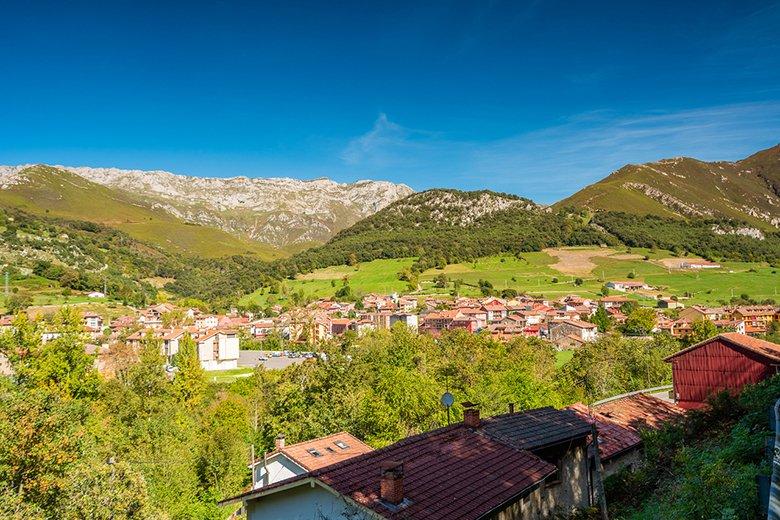
<svg viewBox="0 0 780 520">
<path fill-rule="evenodd" d="M 687 157 L 629 164 L 555 205 L 780 226 L 780 145 L 737 162 Z"/>
</svg>

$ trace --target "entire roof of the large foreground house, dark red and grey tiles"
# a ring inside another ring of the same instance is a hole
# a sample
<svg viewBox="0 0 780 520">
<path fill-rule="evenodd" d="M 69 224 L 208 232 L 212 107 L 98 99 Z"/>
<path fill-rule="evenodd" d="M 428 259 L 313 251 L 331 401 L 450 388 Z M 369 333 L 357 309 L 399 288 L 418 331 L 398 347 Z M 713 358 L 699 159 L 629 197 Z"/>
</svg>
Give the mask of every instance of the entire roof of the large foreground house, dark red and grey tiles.
<svg viewBox="0 0 780 520">
<path fill-rule="evenodd" d="M 481 518 L 530 492 L 555 473 L 555 466 L 530 451 L 584 438 L 587 421 L 570 410 L 541 408 L 483 420 L 480 428 L 457 424 L 408 437 L 395 444 L 227 500 L 261 497 L 314 478 L 390 520 Z M 380 501 L 383 463 L 404 465 L 400 509 Z"/>
</svg>

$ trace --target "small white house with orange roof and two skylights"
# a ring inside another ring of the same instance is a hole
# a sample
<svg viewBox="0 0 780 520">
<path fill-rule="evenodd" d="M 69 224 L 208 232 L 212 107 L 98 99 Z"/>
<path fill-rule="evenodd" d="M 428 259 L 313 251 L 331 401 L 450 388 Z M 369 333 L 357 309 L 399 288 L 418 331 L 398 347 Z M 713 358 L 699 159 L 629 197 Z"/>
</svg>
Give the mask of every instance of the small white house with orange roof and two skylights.
<svg viewBox="0 0 780 520">
<path fill-rule="evenodd" d="M 255 473 L 254 489 L 345 461 L 368 453 L 371 449 L 347 432 L 291 445 L 285 445 L 284 435 L 279 435 L 276 438 L 276 449 L 252 465 Z"/>
</svg>

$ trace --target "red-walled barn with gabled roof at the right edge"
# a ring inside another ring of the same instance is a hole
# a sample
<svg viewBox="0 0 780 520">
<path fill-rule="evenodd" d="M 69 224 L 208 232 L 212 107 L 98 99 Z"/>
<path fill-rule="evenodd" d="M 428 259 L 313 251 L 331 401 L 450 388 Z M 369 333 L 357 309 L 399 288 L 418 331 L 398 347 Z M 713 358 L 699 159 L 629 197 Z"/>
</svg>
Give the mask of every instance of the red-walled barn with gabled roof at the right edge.
<svg viewBox="0 0 780 520">
<path fill-rule="evenodd" d="M 780 345 L 736 332 L 718 334 L 665 359 L 672 364 L 678 406 L 705 406 L 722 390 L 739 392 L 778 373 Z"/>
</svg>

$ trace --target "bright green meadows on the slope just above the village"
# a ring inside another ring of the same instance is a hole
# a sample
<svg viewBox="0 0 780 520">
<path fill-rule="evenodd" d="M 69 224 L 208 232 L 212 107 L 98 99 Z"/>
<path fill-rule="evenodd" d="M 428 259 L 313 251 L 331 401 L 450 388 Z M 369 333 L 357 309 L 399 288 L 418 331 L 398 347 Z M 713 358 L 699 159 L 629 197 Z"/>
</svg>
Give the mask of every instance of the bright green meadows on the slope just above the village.
<svg viewBox="0 0 780 520">
<path fill-rule="evenodd" d="M 447 295 L 452 284 L 445 290 L 434 287 L 433 279 L 444 273 L 450 280 L 462 280 L 460 294 L 478 296 L 478 281 L 488 280 L 497 291 L 515 289 L 520 293 L 544 295 L 555 298 L 566 294 L 595 297 L 609 280 L 626 280 L 633 273 L 635 280 L 645 281 L 657 287 L 644 295 L 632 295 L 640 302 L 655 304 L 658 294 L 678 296 L 686 305 L 694 303 L 718 304 L 732 296 L 747 294 L 756 300 L 778 298 L 780 274 L 767 264 L 726 262 L 722 269 L 690 271 L 669 269 L 661 260 L 672 258 L 669 251 L 633 249 L 614 251 L 598 248 L 567 248 L 567 252 L 606 255 L 590 259 L 592 266 L 577 274 L 567 274 L 553 267 L 558 258 L 547 252 L 524 253 L 521 258 L 511 255 L 491 256 L 473 263 L 451 264 L 444 269 L 430 269 L 420 276 L 421 289 L 414 294 Z M 625 258 L 633 256 L 634 258 Z M 644 257 L 648 259 L 645 260 Z M 411 266 L 412 258 L 400 260 L 375 260 L 357 267 L 337 266 L 319 269 L 314 273 L 286 280 L 280 294 L 270 295 L 264 290 L 256 291 L 243 298 L 242 303 L 255 302 L 284 303 L 286 295 L 302 292 L 311 298 L 332 297 L 346 277 L 353 293 L 370 292 L 408 293 L 407 283 L 398 279 L 398 273 Z M 582 285 L 575 285 L 580 278 Z M 556 281 L 557 280 L 557 281 Z M 612 292 L 612 294 L 619 294 Z M 686 297 L 690 294 L 690 297 Z M 270 300 L 269 300 L 270 297 Z"/>
</svg>

